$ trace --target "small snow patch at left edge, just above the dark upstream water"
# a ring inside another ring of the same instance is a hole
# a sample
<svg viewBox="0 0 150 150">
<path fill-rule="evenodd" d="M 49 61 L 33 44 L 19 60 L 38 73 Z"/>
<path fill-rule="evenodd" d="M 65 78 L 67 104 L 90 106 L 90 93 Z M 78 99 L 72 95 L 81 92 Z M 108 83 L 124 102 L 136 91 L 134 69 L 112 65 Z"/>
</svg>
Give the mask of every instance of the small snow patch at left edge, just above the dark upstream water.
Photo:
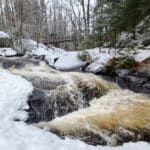
<svg viewBox="0 0 150 150">
<path fill-rule="evenodd" d="M 0 48 L 1 56 L 14 56 L 16 54 L 16 51 L 12 48 Z"/>
</svg>

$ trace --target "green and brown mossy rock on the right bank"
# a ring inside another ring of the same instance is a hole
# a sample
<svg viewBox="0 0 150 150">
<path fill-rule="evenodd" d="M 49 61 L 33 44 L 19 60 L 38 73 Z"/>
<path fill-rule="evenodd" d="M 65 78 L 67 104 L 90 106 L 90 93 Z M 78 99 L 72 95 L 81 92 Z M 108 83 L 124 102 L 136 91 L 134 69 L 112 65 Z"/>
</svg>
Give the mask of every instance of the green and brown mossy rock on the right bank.
<svg viewBox="0 0 150 150">
<path fill-rule="evenodd" d="M 125 68 L 125 69 L 132 69 L 137 66 L 137 62 L 132 57 L 119 57 L 112 59 L 107 68 Z"/>
</svg>

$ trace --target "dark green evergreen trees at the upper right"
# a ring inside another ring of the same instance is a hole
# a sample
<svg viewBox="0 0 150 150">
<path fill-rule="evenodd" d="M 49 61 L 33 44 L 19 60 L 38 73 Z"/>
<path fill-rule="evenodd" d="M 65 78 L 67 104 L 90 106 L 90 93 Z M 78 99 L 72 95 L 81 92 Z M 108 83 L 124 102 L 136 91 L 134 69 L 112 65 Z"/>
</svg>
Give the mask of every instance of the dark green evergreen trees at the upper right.
<svg viewBox="0 0 150 150">
<path fill-rule="evenodd" d="M 118 33 L 133 32 L 135 26 L 150 14 L 150 0 L 97 0 L 94 34 L 97 46 L 114 46 Z"/>
</svg>

